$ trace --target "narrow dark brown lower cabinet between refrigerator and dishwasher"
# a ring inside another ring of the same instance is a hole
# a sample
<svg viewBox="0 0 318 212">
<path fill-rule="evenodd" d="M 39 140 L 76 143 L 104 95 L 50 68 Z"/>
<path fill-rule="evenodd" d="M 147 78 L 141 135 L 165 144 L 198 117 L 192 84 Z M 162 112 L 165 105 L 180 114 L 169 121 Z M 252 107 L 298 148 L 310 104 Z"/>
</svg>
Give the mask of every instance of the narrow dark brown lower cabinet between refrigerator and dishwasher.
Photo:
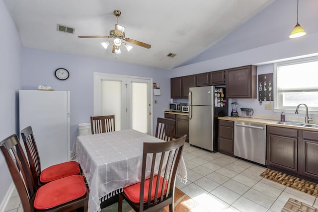
<svg viewBox="0 0 318 212">
<path fill-rule="evenodd" d="M 219 120 L 219 151 L 234 156 L 234 122 Z"/>
</svg>

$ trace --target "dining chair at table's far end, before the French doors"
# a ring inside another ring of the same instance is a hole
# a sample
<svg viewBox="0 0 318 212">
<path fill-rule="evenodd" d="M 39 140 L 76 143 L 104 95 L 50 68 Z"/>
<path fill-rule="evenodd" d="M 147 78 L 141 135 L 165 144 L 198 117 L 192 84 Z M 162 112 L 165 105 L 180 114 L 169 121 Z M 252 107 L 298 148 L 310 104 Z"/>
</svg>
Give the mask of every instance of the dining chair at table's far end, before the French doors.
<svg viewBox="0 0 318 212">
<path fill-rule="evenodd" d="M 108 133 L 115 131 L 115 115 L 91 116 L 91 134 Z"/>
</svg>

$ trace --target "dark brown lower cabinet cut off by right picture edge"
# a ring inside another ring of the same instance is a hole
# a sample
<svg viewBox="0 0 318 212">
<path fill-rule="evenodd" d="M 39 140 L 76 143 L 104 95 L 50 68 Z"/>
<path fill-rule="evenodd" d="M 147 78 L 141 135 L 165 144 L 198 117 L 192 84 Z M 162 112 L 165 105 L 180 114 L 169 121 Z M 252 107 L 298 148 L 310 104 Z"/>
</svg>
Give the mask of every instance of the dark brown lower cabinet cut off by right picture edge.
<svg viewBox="0 0 318 212">
<path fill-rule="evenodd" d="M 318 178 L 318 132 L 303 131 L 303 174 Z"/>
</svg>

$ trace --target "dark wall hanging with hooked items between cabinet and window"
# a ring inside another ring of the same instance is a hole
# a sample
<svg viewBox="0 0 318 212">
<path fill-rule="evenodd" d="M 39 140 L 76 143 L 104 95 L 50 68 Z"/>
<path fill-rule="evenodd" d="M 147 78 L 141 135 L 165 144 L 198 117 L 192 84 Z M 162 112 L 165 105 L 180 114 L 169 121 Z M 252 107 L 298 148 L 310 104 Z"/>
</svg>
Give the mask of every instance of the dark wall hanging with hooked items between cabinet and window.
<svg viewBox="0 0 318 212">
<path fill-rule="evenodd" d="M 273 101 L 273 73 L 258 75 L 258 100 Z"/>
</svg>

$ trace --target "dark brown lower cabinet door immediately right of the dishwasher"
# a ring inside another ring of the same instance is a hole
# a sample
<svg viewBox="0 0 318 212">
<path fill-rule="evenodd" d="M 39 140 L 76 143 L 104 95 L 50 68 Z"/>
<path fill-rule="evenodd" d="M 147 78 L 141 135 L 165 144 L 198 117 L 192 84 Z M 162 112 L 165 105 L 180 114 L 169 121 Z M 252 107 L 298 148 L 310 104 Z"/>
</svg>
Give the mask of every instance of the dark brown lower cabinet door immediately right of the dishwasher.
<svg viewBox="0 0 318 212">
<path fill-rule="evenodd" d="M 297 138 L 269 134 L 268 165 L 297 172 Z"/>
</svg>

